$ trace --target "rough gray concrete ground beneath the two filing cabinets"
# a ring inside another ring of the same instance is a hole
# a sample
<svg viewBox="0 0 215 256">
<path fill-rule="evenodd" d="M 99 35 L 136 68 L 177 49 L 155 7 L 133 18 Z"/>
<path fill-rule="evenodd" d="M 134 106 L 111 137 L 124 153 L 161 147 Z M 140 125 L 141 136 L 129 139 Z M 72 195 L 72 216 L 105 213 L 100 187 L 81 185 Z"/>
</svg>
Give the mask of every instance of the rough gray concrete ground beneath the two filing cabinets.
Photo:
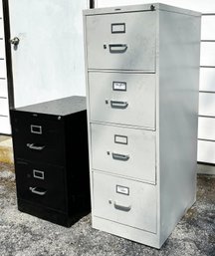
<svg viewBox="0 0 215 256">
<path fill-rule="evenodd" d="M 71 228 L 17 210 L 14 167 L 0 163 L 1 256 L 215 256 L 215 178 L 198 176 L 197 201 L 160 250 L 91 227 L 91 215 Z"/>
</svg>

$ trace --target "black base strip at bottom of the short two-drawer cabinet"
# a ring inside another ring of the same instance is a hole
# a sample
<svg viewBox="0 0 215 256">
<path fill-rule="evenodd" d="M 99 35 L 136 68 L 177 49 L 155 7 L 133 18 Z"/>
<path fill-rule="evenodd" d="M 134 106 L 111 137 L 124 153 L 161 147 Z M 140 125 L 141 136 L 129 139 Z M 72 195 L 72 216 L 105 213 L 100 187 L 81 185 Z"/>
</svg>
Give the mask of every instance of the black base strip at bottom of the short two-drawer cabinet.
<svg viewBox="0 0 215 256">
<path fill-rule="evenodd" d="M 90 213 L 90 209 L 85 209 L 83 211 L 75 212 L 72 215 L 68 215 L 67 213 L 59 212 L 55 209 L 46 208 L 22 199 L 18 199 L 17 203 L 18 210 L 64 227 L 71 227 L 82 217 Z"/>
</svg>

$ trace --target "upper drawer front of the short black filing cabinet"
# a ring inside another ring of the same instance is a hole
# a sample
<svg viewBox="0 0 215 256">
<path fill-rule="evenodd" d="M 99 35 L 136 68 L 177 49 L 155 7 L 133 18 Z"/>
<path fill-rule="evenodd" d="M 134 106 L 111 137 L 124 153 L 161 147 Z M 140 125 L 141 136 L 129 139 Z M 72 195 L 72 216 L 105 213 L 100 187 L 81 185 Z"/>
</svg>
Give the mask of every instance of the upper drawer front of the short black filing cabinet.
<svg viewBox="0 0 215 256">
<path fill-rule="evenodd" d="M 15 157 L 52 164 L 64 162 L 62 120 L 11 112 L 11 121 Z"/>
</svg>

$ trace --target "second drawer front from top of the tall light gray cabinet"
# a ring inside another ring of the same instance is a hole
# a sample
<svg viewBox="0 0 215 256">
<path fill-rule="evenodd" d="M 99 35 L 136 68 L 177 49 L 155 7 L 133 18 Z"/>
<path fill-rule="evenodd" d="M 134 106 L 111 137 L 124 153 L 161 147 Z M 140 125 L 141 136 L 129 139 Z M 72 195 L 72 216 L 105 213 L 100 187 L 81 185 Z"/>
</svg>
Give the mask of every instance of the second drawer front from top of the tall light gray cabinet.
<svg viewBox="0 0 215 256">
<path fill-rule="evenodd" d="M 155 128 L 155 76 L 89 73 L 90 118 L 142 128 Z"/>
</svg>

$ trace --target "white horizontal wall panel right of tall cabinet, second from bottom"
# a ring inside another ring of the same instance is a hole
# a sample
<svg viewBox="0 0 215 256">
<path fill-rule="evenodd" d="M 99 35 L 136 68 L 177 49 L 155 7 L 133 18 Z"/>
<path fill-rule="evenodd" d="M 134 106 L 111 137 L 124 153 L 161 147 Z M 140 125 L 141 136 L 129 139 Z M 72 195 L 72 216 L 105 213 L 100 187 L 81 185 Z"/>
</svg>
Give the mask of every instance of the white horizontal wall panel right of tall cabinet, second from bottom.
<svg viewBox="0 0 215 256">
<path fill-rule="evenodd" d="M 215 119 L 199 118 L 198 138 L 215 140 Z"/>
</svg>

